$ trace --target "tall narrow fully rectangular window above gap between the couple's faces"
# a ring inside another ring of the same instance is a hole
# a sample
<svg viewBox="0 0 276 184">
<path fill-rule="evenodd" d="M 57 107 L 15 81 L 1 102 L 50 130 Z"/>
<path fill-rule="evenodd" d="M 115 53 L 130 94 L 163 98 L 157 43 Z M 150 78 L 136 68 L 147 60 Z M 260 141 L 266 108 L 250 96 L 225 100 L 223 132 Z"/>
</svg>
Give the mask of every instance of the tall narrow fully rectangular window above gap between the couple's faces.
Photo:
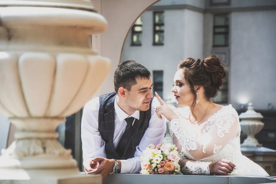
<svg viewBox="0 0 276 184">
<path fill-rule="evenodd" d="M 153 12 L 153 45 L 164 44 L 164 12 Z"/>
</svg>

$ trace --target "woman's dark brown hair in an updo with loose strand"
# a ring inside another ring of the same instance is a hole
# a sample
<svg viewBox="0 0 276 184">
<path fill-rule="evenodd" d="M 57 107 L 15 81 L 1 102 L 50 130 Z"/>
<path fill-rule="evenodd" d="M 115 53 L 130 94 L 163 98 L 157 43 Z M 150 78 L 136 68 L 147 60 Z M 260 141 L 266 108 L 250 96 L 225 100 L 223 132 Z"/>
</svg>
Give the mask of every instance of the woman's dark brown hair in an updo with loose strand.
<svg viewBox="0 0 276 184">
<path fill-rule="evenodd" d="M 185 81 L 194 94 L 191 112 L 194 109 L 197 98 L 194 86 L 202 86 L 204 88 L 205 97 L 210 100 L 210 98 L 217 96 L 218 90 L 223 83 L 222 79 L 226 76 L 224 64 L 214 55 L 203 60 L 195 60 L 193 58 L 181 60 L 177 69 L 183 69 Z"/>
</svg>

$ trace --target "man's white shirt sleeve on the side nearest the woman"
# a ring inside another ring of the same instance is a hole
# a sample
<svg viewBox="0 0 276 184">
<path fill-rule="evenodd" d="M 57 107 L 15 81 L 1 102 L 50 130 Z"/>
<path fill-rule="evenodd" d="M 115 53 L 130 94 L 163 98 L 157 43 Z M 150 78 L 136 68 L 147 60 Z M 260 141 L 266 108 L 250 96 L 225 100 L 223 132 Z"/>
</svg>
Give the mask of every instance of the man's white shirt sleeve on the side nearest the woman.
<svg viewBox="0 0 276 184">
<path fill-rule="evenodd" d="M 140 144 L 136 147 L 134 157 L 121 161 L 121 173 L 139 173 L 141 171 L 141 159 L 143 151 L 149 144 L 160 144 L 164 140 L 166 132 L 166 118 L 159 119 L 155 112 L 155 108 L 160 105 L 156 97 L 153 98 L 151 103 L 151 119 L 149 126 L 142 137 Z"/>
</svg>

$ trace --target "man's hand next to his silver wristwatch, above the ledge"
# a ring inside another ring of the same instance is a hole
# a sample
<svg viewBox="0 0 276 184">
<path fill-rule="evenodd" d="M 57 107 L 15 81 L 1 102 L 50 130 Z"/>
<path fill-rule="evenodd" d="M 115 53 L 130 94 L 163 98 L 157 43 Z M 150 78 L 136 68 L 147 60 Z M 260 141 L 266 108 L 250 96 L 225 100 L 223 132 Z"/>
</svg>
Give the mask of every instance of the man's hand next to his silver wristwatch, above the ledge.
<svg viewBox="0 0 276 184">
<path fill-rule="evenodd" d="M 106 159 L 103 157 L 95 157 L 94 159 L 91 159 L 91 161 L 98 162 L 99 167 L 89 171 L 87 174 L 101 174 L 103 178 L 112 172 L 113 166 L 115 164 L 113 159 Z"/>
</svg>

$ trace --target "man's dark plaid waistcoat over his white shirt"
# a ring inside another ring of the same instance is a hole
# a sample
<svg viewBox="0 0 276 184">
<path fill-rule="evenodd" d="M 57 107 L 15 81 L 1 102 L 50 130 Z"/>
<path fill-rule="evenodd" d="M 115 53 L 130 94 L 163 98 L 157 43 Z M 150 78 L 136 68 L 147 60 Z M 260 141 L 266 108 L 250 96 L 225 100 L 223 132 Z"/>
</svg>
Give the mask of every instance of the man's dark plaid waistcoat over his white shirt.
<svg viewBox="0 0 276 184">
<path fill-rule="evenodd" d="M 117 94 L 115 92 L 104 94 L 99 97 L 99 132 L 102 140 L 105 141 L 105 154 L 108 159 L 129 159 L 134 157 L 136 146 L 139 145 L 146 129 L 148 128 L 149 120 L 151 119 L 151 102 L 150 108 L 147 111 L 140 111 L 140 119 L 135 120 L 133 124 L 133 133 L 129 137 L 122 157 L 118 155 L 113 144 L 115 109 L 114 101 Z"/>
</svg>

